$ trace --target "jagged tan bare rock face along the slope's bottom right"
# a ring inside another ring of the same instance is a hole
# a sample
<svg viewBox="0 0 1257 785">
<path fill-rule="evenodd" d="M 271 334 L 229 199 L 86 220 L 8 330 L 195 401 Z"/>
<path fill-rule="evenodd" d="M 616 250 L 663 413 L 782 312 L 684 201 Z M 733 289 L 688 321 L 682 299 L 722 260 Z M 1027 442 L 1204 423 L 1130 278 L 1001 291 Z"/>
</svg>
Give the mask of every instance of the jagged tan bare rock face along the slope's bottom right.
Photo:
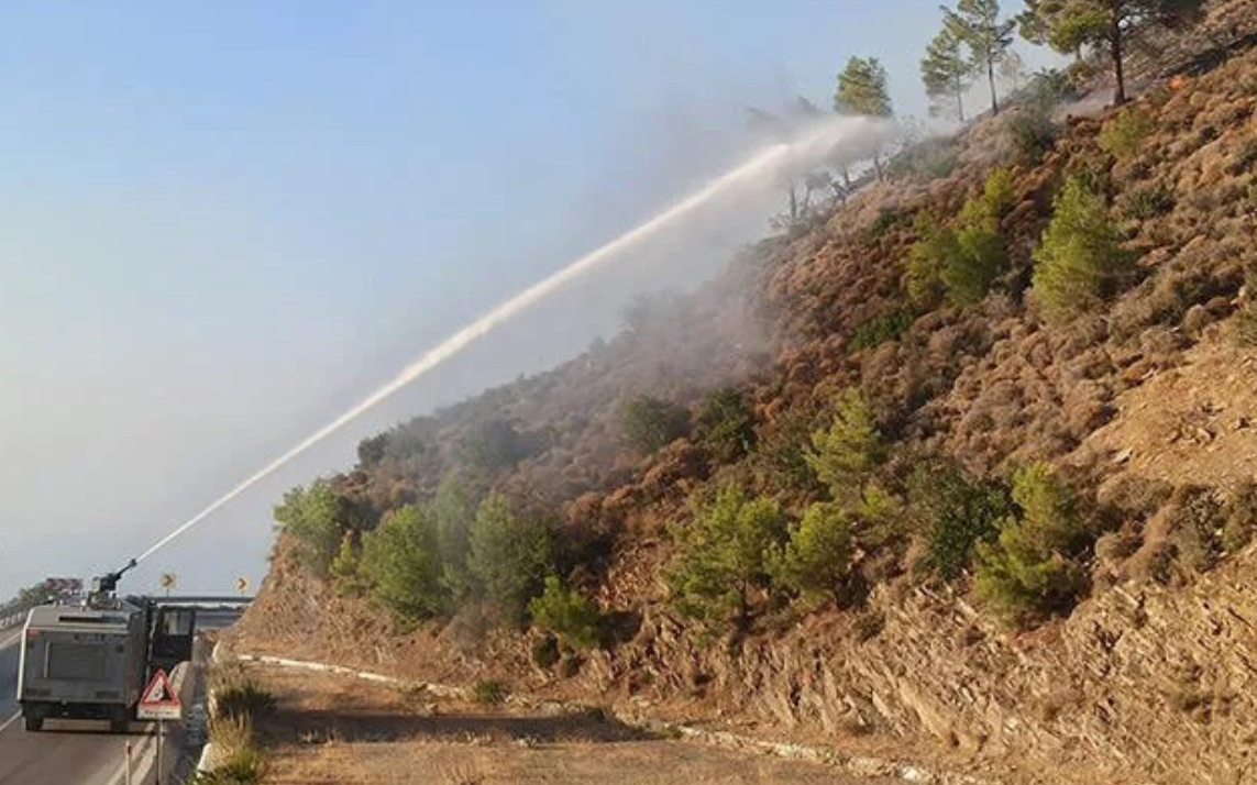
<svg viewBox="0 0 1257 785">
<path fill-rule="evenodd" d="M 1019 636 L 923 589 L 875 595 L 880 631 L 830 618 L 737 652 L 649 615 L 586 678 L 639 701 L 709 700 L 774 726 L 928 737 L 974 759 L 1077 766 L 1107 782 L 1251 782 L 1254 577 L 1249 550 L 1190 588 L 1116 587 Z M 1060 776 L 1050 781 L 1084 781 Z"/>
</svg>

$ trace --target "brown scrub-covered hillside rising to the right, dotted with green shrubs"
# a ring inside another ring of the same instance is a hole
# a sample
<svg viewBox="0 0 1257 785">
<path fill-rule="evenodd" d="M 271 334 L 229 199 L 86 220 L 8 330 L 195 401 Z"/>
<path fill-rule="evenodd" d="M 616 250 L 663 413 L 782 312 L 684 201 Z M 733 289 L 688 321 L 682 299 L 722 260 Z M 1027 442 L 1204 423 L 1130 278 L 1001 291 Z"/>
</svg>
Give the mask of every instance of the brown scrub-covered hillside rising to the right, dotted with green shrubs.
<svg viewBox="0 0 1257 785">
<path fill-rule="evenodd" d="M 556 521 L 549 568 L 595 600 L 597 646 L 571 643 L 577 612 L 494 628 L 483 587 L 388 614 L 385 578 L 352 559 L 312 578 L 299 530 L 234 644 L 896 744 L 1011 781 L 1257 779 L 1254 38 L 1257 3 L 1217 4 L 1133 107 L 1027 143 L 1027 97 L 931 143 L 950 166 L 892 167 L 694 298 L 365 445 L 333 480 L 362 564 L 450 476 Z M 1045 260 L 1071 190 L 1114 268 L 1066 288 L 1062 317 Z M 978 235 L 998 261 L 957 250 Z M 694 423 L 627 446 L 641 393 Z M 763 548 L 703 560 L 728 520 Z M 832 539 L 791 563 L 808 521 Z"/>
</svg>

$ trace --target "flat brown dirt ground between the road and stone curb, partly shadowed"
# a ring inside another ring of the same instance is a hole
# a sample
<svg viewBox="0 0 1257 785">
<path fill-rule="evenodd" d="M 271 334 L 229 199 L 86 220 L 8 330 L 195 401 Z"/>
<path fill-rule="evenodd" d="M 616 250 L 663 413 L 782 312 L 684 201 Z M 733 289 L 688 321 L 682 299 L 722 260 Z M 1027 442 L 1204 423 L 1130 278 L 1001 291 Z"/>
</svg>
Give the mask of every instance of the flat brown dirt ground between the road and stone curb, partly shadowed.
<svg viewBox="0 0 1257 785">
<path fill-rule="evenodd" d="M 857 779 L 789 761 L 650 736 L 597 713 L 524 712 L 352 677 L 246 667 L 279 698 L 258 722 L 274 785 L 810 785 Z"/>
</svg>

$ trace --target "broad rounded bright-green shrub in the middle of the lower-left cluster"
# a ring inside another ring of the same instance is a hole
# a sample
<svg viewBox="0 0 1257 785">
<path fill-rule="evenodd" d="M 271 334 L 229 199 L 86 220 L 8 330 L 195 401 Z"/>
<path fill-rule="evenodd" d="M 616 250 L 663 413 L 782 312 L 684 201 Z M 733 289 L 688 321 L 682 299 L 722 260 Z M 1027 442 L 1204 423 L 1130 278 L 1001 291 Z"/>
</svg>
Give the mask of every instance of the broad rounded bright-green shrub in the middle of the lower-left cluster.
<svg viewBox="0 0 1257 785">
<path fill-rule="evenodd" d="M 360 571 L 372 598 L 398 619 L 424 619 L 449 609 L 436 520 L 425 507 L 390 510 L 375 531 L 365 534 Z"/>
</svg>

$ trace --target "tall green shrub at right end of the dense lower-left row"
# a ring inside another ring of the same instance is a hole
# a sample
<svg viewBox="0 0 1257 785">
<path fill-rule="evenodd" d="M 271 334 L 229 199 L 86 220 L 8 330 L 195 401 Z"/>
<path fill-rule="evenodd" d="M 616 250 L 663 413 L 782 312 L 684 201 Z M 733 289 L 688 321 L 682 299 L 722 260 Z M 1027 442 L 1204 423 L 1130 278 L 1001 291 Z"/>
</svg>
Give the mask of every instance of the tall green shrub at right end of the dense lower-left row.
<svg viewBox="0 0 1257 785">
<path fill-rule="evenodd" d="M 494 494 L 476 510 L 469 545 L 468 573 L 474 589 L 503 620 L 522 622 L 528 600 L 552 568 L 549 524 L 517 517 L 505 497 Z"/>
</svg>

